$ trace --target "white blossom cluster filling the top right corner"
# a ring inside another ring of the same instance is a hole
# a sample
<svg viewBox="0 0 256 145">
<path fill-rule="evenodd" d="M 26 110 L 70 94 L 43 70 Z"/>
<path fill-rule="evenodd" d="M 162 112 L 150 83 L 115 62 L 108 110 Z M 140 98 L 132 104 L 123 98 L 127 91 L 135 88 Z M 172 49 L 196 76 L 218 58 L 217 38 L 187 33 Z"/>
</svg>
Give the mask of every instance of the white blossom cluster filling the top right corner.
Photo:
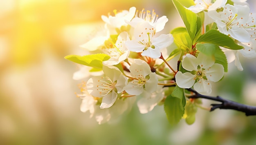
<svg viewBox="0 0 256 145">
<path fill-rule="evenodd" d="M 243 67 L 238 53 L 245 58 L 256 58 L 256 13 L 250 13 L 246 0 L 232 1 L 234 5 L 226 4 L 227 0 L 216 0 L 213 3 L 212 0 L 195 0 L 195 5 L 188 9 L 195 13 L 204 11 L 204 25 L 215 22 L 221 33 L 234 38 L 239 45 L 244 47 L 239 51 L 228 51 L 228 53 L 235 53 L 235 64 L 242 71 Z"/>
</svg>

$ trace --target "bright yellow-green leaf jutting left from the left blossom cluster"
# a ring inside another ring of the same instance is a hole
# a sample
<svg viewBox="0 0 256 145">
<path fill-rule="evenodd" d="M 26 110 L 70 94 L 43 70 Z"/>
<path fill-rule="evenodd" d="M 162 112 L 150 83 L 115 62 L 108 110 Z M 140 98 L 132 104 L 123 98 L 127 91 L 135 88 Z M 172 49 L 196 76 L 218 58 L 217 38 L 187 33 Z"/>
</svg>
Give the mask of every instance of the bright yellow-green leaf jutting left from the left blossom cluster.
<svg viewBox="0 0 256 145">
<path fill-rule="evenodd" d="M 102 62 L 108 60 L 110 56 L 107 54 L 91 54 L 87 56 L 76 56 L 76 55 L 69 55 L 65 56 L 65 59 L 70 60 L 72 62 L 76 62 L 81 65 L 87 65 L 89 67 L 95 68 L 94 70 L 102 69 Z M 92 70 L 93 71 L 93 70 Z"/>
</svg>

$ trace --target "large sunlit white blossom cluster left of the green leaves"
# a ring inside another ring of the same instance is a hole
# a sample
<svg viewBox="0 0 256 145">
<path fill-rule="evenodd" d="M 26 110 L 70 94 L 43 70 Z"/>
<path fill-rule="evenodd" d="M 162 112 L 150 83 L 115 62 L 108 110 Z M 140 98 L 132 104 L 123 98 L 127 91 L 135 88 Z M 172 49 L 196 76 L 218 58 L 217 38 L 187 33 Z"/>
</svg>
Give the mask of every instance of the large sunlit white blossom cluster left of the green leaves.
<svg viewBox="0 0 256 145">
<path fill-rule="evenodd" d="M 99 124 L 128 110 L 136 100 L 134 96 L 140 97 L 137 105 L 142 114 L 163 100 L 159 77 L 151 69 L 156 65 L 155 58 L 162 56 L 162 49 L 173 42 L 171 34 L 158 34 L 168 19 L 158 18 L 154 10 L 138 12 L 131 7 L 129 11 L 114 10 L 114 13 L 115 16 L 101 16 L 105 22 L 103 31 L 81 45 L 91 54 L 101 51 L 110 56 L 102 62 L 103 73 L 84 75 L 90 74 L 85 66 L 73 77 L 90 77 L 81 85 L 82 94 L 77 96 L 83 99 L 81 111 L 89 111 Z M 116 67 L 119 64 L 127 69 L 125 73 Z"/>
</svg>

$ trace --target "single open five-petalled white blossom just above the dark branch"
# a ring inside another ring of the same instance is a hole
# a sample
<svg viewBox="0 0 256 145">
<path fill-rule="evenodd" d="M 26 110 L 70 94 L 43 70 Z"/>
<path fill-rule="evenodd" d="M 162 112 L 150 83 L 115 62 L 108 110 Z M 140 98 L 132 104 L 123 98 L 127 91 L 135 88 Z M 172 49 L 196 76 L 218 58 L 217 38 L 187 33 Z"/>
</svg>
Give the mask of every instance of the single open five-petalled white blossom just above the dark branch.
<svg viewBox="0 0 256 145">
<path fill-rule="evenodd" d="M 197 58 L 191 54 L 183 56 L 182 67 L 190 72 L 178 71 L 175 75 L 177 85 L 180 88 L 193 86 L 201 94 L 210 94 L 210 81 L 218 82 L 224 76 L 224 67 L 202 53 Z"/>
</svg>

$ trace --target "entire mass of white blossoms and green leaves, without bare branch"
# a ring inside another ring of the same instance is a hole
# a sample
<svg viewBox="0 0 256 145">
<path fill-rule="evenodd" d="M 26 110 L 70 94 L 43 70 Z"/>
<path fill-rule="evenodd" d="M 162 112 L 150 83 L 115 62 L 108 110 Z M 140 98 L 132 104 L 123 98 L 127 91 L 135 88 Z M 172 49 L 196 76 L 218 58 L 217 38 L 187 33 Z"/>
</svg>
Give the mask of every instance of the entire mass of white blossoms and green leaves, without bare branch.
<svg viewBox="0 0 256 145">
<path fill-rule="evenodd" d="M 117 118 L 137 101 L 139 112 L 163 105 L 171 124 L 195 121 L 201 102 L 189 88 L 211 93 L 233 60 L 243 70 L 238 54 L 256 57 L 256 14 L 245 0 L 173 0 L 185 27 L 164 34 L 168 18 L 155 11 L 114 10 L 101 16 L 105 25 L 81 45 L 90 55 L 65 58 L 81 65 L 73 78 L 80 85 L 81 111 L 99 124 Z M 177 57 L 176 57 L 177 56 Z M 172 64 L 170 60 L 177 63 Z M 178 66 L 177 66 L 178 65 Z"/>
</svg>

